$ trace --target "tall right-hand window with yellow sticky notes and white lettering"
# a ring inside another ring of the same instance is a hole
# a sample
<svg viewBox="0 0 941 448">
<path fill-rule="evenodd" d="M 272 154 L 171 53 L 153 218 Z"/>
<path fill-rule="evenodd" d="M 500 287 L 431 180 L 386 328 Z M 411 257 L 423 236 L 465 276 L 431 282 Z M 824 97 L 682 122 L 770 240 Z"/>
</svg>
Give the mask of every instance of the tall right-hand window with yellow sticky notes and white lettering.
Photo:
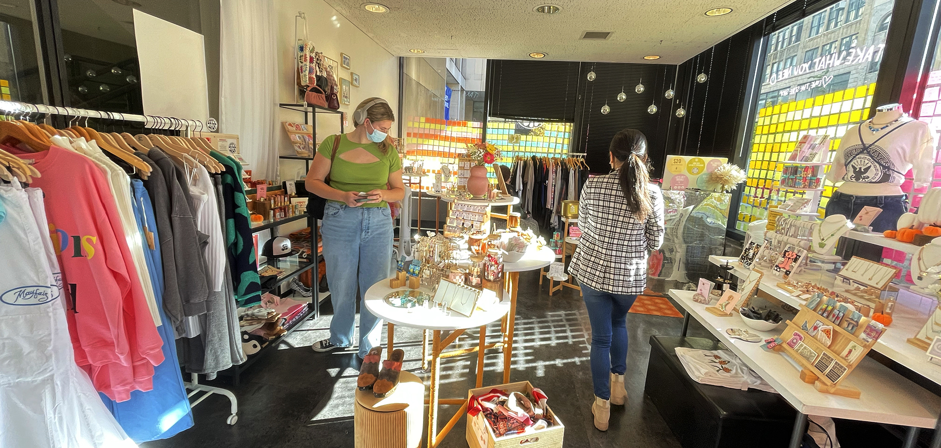
<svg viewBox="0 0 941 448">
<path fill-rule="evenodd" d="M 778 189 L 778 162 L 802 136 L 828 135 L 830 148 L 836 149 L 847 129 L 867 118 L 893 5 L 894 0 L 842 0 L 804 19 L 807 35 L 786 54 L 768 46 L 770 70 L 758 94 L 737 229 L 767 218 L 769 207 L 791 195 L 803 194 Z M 791 65 L 796 54 L 803 55 L 803 62 Z M 821 214 L 833 191 L 833 185 L 824 185 Z"/>
</svg>

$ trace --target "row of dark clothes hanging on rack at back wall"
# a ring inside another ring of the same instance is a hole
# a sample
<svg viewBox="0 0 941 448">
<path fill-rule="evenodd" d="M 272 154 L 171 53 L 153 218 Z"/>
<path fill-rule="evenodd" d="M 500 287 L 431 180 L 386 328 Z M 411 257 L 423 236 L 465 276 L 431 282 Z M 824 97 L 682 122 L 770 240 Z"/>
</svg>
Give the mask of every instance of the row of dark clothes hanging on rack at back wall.
<svg viewBox="0 0 941 448">
<path fill-rule="evenodd" d="M 582 157 L 517 157 L 510 171 L 520 208 L 547 231 L 562 225 L 562 201 L 577 201 L 588 180 Z"/>
</svg>

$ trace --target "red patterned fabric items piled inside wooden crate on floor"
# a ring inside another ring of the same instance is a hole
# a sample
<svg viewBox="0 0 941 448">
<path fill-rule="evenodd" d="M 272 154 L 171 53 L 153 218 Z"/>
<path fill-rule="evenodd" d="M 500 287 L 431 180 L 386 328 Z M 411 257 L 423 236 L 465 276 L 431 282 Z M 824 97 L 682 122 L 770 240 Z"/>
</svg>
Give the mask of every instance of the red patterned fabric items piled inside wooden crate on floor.
<svg viewBox="0 0 941 448">
<path fill-rule="evenodd" d="M 539 389 L 532 396 L 493 389 L 484 395 L 472 395 L 468 405 L 471 417 L 483 412 L 487 425 L 498 438 L 533 432 L 556 425 L 546 406 L 548 397 Z"/>
</svg>

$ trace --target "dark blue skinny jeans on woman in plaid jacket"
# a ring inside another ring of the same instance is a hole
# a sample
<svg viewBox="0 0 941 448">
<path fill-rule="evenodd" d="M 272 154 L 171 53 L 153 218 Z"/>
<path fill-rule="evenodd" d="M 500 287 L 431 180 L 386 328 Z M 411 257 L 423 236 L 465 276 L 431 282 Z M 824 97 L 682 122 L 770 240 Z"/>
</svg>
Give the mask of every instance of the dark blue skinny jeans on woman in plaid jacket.
<svg viewBox="0 0 941 448">
<path fill-rule="evenodd" d="M 595 396 L 611 399 L 611 375 L 628 369 L 628 311 L 632 294 L 612 294 L 582 284 L 582 299 L 591 321 L 591 378 Z"/>
</svg>

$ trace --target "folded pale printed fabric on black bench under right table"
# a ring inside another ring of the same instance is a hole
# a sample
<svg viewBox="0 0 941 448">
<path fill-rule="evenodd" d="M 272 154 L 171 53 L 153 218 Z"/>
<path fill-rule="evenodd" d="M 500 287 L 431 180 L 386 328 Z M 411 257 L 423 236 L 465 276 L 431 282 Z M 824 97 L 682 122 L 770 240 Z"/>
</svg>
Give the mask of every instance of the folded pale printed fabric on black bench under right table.
<svg viewBox="0 0 941 448">
<path fill-rule="evenodd" d="M 696 382 L 742 391 L 752 388 L 777 393 L 731 351 L 678 347 L 677 356 L 686 368 L 686 373 Z"/>
</svg>

